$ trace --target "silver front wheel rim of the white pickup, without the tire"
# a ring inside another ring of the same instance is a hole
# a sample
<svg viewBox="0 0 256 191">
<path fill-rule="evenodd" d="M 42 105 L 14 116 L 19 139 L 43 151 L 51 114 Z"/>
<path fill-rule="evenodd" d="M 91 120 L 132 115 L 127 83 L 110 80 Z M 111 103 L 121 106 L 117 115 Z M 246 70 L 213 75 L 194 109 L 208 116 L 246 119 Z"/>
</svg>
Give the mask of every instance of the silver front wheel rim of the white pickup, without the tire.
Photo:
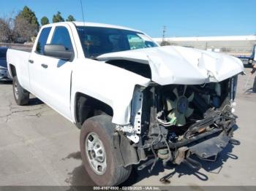
<svg viewBox="0 0 256 191">
<path fill-rule="evenodd" d="M 99 136 L 96 133 L 89 133 L 85 143 L 86 156 L 91 169 L 97 175 L 105 174 L 107 169 L 106 152 Z"/>
</svg>

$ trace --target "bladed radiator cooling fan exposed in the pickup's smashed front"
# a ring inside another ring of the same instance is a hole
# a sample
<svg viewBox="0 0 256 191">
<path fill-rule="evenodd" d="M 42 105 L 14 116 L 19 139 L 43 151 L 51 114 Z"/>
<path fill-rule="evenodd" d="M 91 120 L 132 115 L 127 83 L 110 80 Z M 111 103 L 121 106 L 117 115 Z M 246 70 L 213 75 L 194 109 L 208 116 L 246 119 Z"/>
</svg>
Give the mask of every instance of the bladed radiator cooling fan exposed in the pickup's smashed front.
<svg viewBox="0 0 256 191">
<path fill-rule="evenodd" d="M 173 93 L 176 95 L 174 101 L 167 99 L 167 120 L 171 123 L 171 125 L 183 126 L 186 125 L 186 118 L 191 116 L 194 112 L 194 109 L 189 108 L 189 103 L 194 99 L 194 93 L 189 95 L 187 98 L 185 96 L 187 90 L 187 85 L 184 86 L 184 90 L 178 94 L 178 89 L 174 88 Z"/>
</svg>

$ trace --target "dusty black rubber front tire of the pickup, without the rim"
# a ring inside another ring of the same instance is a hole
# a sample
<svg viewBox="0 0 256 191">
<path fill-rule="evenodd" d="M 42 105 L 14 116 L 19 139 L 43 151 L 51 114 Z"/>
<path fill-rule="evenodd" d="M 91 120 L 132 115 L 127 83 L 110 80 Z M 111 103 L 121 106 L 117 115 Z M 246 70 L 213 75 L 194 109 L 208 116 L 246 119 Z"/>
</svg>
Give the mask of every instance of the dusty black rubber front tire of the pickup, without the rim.
<svg viewBox="0 0 256 191">
<path fill-rule="evenodd" d="M 112 117 L 109 115 L 91 117 L 83 123 L 80 131 L 80 152 L 83 165 L 94 183 L 99 186 L 115 186 L 121 184 L 128 179 L 132 171 L 132 165 L 129 165 L 126 168 L 117 165 L 116 155 L 118 154 L 113 147 L 114 125 L 111 120 Z M 97 134 L 105 149 L 107 166 L 102 175 L 97 174 L 91 167 L 89 153 L 86 151 L 86 141 L 88 140 L 86 137 L 91 133 Z"/>
</svg>

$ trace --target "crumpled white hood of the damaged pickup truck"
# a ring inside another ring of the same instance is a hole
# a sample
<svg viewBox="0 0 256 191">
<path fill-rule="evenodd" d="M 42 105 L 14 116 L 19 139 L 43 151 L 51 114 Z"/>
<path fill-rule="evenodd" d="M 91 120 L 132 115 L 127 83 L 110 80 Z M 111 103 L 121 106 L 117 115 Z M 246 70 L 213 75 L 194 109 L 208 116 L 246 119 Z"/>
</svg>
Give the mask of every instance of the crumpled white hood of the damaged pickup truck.
<svg viewBox="0 0 256 191">
<path fill-rule="evenodd" d="M 233 56 L 176 46 L 112 52 L 100 55 L 97 60 L 149 64 L 151 79 L 159 85 L 221 82 L 244 71 L 243 63 Z"/>
</svg>

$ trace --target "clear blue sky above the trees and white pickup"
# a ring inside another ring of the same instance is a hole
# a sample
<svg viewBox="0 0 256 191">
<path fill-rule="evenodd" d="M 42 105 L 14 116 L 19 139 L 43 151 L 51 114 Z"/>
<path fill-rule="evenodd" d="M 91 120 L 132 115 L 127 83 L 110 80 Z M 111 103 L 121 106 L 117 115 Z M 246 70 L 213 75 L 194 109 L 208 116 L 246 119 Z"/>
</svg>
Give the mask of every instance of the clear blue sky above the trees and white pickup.
<svg viewBox="0 0 256 191">
<path fill-rule="evenodd" d="M 82 0 L 86 21 L 128 26 L 150 36 L 256 34 L 256 0 Z M 0 16 L 27 5 L 38 20 L 61 12 L 83 20 L 80 0 L 1 0 Z"/>
</svg>

